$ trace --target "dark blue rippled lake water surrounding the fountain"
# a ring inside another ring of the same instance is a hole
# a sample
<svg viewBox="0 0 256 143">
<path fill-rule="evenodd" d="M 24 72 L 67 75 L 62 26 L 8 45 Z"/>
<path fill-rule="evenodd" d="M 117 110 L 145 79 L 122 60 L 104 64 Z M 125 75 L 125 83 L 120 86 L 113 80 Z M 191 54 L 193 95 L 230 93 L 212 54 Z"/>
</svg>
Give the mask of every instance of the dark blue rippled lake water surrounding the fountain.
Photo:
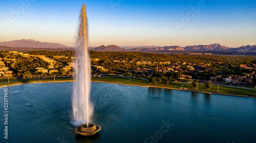
<svg viewBox="0 0 256 143">
<path fill-rule="evenodd" d="M 8 139 L 0 142 L 256 142 L 256 99 L 92 83 L 93 123 L 81 137 L 71 123 L 73 82 L 8 87 Z M 0 88 L 4 115 L 4 88 Z"/>
</svg>

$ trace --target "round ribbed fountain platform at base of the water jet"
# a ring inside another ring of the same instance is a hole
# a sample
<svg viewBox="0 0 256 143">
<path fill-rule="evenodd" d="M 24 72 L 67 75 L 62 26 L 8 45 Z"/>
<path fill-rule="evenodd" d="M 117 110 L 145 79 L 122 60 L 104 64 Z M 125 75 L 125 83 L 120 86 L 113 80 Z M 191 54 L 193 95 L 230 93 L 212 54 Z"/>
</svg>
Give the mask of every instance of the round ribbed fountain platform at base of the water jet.
<svg viewBox="0 0 256 143">
<path fill-rule="evenodd" d="M 91 136 L 100 131 L 100 129 L 101 127 L 99 125 L 89 123 L 88 126 L 87 124 L 82 124 L 76 127 L 75 132 L 83 136 Z"/>
</svg>

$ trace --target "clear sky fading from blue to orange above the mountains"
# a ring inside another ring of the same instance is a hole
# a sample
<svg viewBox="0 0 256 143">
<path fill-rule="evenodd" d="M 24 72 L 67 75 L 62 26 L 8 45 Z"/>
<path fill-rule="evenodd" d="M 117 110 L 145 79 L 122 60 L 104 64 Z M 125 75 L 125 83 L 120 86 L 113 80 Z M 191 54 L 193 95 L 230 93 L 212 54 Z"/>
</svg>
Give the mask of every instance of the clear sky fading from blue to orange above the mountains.
<svg viewBox="0 0 256 143">
<path fill-rule="evenodd" d="M 86 4 L 89 46 L 256 45 L 256 1 L 0 1 L 0 42 L 73 46 Z"/>
</svg>

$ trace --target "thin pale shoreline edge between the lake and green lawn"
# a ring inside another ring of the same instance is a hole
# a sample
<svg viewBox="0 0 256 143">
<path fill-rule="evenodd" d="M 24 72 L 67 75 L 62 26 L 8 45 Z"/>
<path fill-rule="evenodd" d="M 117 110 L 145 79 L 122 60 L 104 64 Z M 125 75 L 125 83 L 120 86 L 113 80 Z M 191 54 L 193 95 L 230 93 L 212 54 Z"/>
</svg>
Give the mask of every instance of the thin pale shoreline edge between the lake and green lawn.
<svg viewBox="0 0 256 143">
<path fill-rule="evenodd" d="M 30 83 L 51 83 L 51 82 L 75 82 L 74 80 L 63 80 L 63 81 L 38 81 L 38 82 L 26 82 L 26 83 L 14 83 L 10 84 L 9 86 L 14 86 L 14 85 L 21 85 L 21 84 L 30 84 Z M 124 84 L 124 83 L 117 83 L 117 82 L 108 82 L 108 81 L 92 81 L 91 82 L 101 82 L 101 83 L 111 83 L 111 84 L 121 84 L 121 85 L 127 85 L 127 86 L 134 86 L 134 87 L 141 87 L 141 88 L 158 88 L 158 89 L 169 89 L 169 90 L 178 90 L 178 91 L 186 91 L 186 92 L 194 92 L 194 93 L 202 93 L 202 94 L 216 94 L 216 95 L 226 95 L 226 96 L 236 96 L 236 97 L 245 97 L 245 98 L 253 98 L 256 99 L 255 97 L 251 96 L 245 96 L 245 95 L 233 95 L 233 94 L 222 94 L 222 93 L 207 93 L 207 92 L 199 92 L 199 91 L 191 91 L 191 90 L 184 90 L 184 89 L 174 89 L 174 88 L 165 88 L 165 87 L 155 87 L 155 86 L 142 86 L 142 85 L 137 85 L 137 84 Z M 5 85 L 0 85 L 0 88 L 3 88 Z"/>
</svg>

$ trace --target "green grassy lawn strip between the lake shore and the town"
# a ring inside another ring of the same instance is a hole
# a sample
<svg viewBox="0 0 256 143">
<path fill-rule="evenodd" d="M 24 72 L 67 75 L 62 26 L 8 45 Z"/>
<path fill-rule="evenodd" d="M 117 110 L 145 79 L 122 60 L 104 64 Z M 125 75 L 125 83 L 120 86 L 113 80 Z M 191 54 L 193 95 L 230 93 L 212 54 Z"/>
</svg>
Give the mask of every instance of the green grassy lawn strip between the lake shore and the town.
<svg viewBox="0 0 256 143">
<path fill-rule="evenodd" d="M 1 81 L 1 80 L 0 80 Z M 8 81 L 8 79 L 7 79 Z M 11 81 L 11 79 L 10 79 Z M 52 79 L 24 79 L 24 80 L 16 80 L 11 81 L 10 83 L 0 83 L 0 86 L 11 85 L 17 83 L 29 83 L 29 82 L 56 82 L 56 81 L 73 81 L 73 78 L 55 78 Z M 172 88 L 172 89 L 180 89 L 187 88 L 190 91 L 204 92 L 204 93 L 220 93 L 220 94 L 231 94 L 231 95 L 243 95 L 243 96 L 251 96 L 256 97 L 255 90 L 237 88 L 237 87 L 226 87 L 220 86 L 218 91 L 218 85 L 212 85 L 210 90 L 204 89 L 204 84 L 199 84 L 198 90 L 191 88 L 191 83 L 180 83 L 180 82 L 171 82 L 169 84 L 166 83 L 158 83 L 158 84 L 150 84 L 146 80 L 136 79 L 136 78 L 116 78 L 116 77 L 93 77 L 92 81 L 103 81 L 103 82 L 114 82 L 114 83 L 122 83 L 122 84 L 132 84 L 132 85 L 141 85 L 141 86 L 152 86 L 159 88 Z M 2 82 L 6 82 L 6 79 Z M 183 85 L 183 86 L 182 86 Z"/>
</svg>

